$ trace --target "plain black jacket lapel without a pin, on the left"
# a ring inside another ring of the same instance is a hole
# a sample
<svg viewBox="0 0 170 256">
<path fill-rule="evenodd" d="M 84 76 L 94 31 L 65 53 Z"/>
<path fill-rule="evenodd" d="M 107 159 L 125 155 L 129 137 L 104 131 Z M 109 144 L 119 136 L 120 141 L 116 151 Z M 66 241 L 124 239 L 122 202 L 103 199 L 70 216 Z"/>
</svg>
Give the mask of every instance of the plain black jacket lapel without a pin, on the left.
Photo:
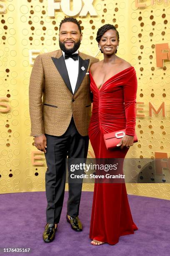
<svg viewBox="0 0 170 256">
<path fill-rule="evenodd" d="M 70 79 L 68 76 L 67 67 L 65 65 L 65 60 L 64 60 L 63 55 L 60 58 L 51 57 L 51 59 L 54 62 L 55 67 L 57 68 L 58 72 L 60 73 L 60 75 L 61 75 L 62 79 L 64 80 L 65 84 L 67 85 L 68 89 L 72 93 Z"/>
</svg>

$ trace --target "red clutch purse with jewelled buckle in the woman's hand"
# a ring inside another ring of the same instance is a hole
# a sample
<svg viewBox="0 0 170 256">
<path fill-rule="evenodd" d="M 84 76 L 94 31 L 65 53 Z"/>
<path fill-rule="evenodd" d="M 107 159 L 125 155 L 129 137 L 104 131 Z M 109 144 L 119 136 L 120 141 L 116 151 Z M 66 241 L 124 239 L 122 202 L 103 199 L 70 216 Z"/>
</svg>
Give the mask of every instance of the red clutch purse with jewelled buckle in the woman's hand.
<svg viewBox="0 0 170 256">
<path fill-rule="evenodd" d="M 107 149 L 112 149 L 115 148 L 117 144 L 122 140 L 122 138 L 125 136 L 125 129 L 122 129 L 120 131 L 114 131 L 111 133 L 106 133 L 104 134 L 104 140 L 106 144 Z M 134 141 L 133 143 L 138 142 L 138 138 L 134 136 Z"/>
</svg>

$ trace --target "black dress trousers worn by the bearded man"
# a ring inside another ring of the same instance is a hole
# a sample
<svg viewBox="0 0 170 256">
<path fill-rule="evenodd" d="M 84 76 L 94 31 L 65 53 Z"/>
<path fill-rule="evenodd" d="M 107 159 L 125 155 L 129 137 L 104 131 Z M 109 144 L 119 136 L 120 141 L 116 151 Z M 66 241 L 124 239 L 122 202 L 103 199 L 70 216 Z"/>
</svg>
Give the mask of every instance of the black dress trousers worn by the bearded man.
<svg viewBox="0 0 170 256">
<path fill-rule="evenodd" d="M 81 136 L 75 126 L 73 117 L 67 131 L 62 136 L 45 134 L 47 148 L 45 159 L 47 171 L 45 173 L 45 188 L 47 197 L 47 223 L 59 223 L 65 192 L 65 177 L 67 156 L 70 159 L 87 158 L 88 136 Z M 68 165 L 68 174 L 70 168 Z M 69 197 L 67 214 L 76 217 L 79 214 L 82 182 L 68 182 Z"/>
</svg>

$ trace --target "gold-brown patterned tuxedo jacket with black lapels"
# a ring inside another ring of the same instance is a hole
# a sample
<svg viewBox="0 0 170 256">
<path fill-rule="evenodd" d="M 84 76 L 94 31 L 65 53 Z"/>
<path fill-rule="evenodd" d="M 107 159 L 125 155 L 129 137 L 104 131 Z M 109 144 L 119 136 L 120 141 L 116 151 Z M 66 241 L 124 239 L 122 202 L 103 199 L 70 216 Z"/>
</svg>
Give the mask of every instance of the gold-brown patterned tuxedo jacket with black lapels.
<svg viewBox="0 0 170 256">
<path fill-rule="evenodd" d="M 39 54 L 29 86 L 30 136 L 61 136 L 74 118 L 77 131 L 88 134 L 91 117 L 89 69 L 98 59 L 79 52 L 79 73 L 74 94 L 61 50 Z"/>
</svg>

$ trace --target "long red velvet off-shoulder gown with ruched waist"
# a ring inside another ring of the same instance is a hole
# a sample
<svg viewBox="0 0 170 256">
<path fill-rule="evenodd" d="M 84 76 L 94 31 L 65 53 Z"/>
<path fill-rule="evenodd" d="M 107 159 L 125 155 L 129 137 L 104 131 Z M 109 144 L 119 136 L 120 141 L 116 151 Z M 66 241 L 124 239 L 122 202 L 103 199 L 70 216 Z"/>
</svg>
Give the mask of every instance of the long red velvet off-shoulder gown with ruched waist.
<svg viewBox="0 0 170 256">
<path fill-rule="evenodd" d="M 135 134 L 137 78 L 134 67 L 129 67 L 108 79 L 100 89 L 90 73 L 93 93 L 92 118 L 89 137 L 97 159 L 124 159 L 128 148 L 107 150 L 103 134 L 126 129 Z M 137 230 L 130 212 L 125 183 L 95 183 L 90 238 L 114 245 L 122 235 Z"/>
</svg>

